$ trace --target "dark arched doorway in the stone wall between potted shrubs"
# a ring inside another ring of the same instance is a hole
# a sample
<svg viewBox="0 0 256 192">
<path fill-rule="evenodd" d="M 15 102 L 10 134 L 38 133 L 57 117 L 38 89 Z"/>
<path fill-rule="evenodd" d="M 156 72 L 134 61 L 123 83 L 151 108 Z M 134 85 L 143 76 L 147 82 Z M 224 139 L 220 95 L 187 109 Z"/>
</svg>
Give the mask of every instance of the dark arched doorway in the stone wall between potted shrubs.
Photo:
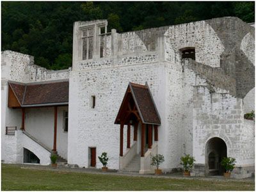
<svg viewBox="0 0 256 192">
<path fill-rule="evenodd" d="M 211 138 L 205 146 L 206 175 L 222 175 L 225 171 L 220 162 L 227 157 L 227 145 L 221 138 Z"/>
</svg>

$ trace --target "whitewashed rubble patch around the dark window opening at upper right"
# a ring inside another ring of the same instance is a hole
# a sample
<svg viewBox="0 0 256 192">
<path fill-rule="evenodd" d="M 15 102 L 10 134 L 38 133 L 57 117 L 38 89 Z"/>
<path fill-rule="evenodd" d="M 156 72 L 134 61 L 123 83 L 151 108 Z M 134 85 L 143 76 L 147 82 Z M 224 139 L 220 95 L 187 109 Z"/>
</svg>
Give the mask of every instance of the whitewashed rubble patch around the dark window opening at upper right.
<svg viewBox="0 0 256 192">
<path fill-rule="evenodd" d="M 164 36 L 175 52 L 175 60 L 180 60 L 179 49 L 195 47 L 197 62 L 220 67 L 220 55 L 224 51 L 224 46 L 214 29 L 204 20 L 170 26 Z M 166 60 L 170 61 L 173 58 L 167 57 Z"/>
</svg>

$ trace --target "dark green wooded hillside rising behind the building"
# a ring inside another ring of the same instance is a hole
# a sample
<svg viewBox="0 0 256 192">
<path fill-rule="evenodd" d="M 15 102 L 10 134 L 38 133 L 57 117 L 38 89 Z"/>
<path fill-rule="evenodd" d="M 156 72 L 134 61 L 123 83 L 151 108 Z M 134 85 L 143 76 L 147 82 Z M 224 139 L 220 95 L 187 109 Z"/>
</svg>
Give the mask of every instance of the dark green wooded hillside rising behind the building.
<svg viewBox="0 0 256 192">
<path fill-rule="evenodd" d="M 71 66 L 73 23 L 77 20 L 108 19 L 108 29 L 118 32 L 224 16 L 254 22 L 254 5 L 253 1 L 3 1 L 2 51 L 30 54 L 36 65 L 58 70 Z"/>
</svg>

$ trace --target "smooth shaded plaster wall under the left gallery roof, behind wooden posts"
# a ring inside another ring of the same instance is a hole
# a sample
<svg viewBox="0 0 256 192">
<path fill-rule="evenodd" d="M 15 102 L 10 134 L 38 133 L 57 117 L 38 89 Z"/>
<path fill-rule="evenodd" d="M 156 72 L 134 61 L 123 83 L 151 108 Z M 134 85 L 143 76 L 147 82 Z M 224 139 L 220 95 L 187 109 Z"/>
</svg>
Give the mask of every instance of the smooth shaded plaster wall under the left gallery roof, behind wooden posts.
<svg viewBox="0 0 256 192">
<path fill-rule="evenodd" d="M 63 111 L 67 107 L 58 107 L 57 116 L 57 151 L 67 159 L 68 132 L 63 131 Z M 47 148 L 52 149 L 54 138 L 54 108 L 26 109 L 25 129 Z"/>
</svg>

